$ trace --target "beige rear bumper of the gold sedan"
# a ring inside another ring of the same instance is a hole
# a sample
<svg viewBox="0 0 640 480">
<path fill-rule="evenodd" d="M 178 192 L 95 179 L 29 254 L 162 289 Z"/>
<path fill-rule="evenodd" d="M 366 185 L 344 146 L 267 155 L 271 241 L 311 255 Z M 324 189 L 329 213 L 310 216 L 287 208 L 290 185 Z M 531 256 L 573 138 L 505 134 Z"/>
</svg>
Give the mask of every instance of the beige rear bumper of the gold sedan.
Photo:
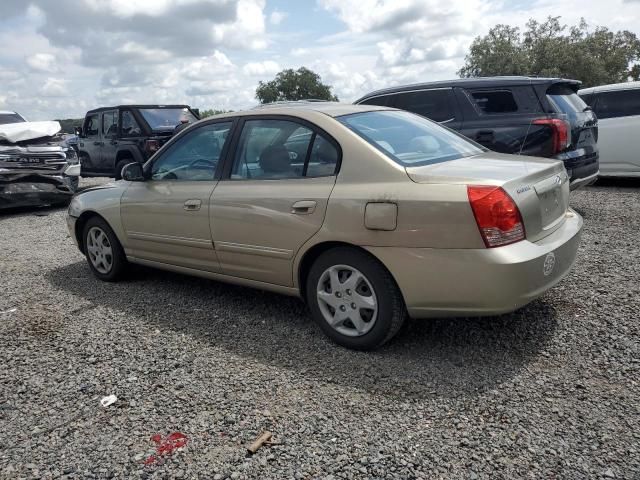
<svg viewBox="0 0 640 480">
<path fill-rule="evenodd" d="M 569 272 L 582 218 L 573 210 L 562 227 L 538 242 L 490 249 L 368 247 L 396 279 L 414 318 L 482 316 L 514 311 Z"/>
</svg>

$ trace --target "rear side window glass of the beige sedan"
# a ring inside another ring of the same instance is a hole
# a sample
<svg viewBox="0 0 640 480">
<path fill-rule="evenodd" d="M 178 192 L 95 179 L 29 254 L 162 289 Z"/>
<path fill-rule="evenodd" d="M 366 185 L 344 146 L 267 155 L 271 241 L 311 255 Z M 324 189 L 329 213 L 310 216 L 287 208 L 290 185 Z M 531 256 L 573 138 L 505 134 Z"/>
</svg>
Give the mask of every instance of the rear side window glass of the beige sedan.
<svg viewBox="0 0 640 480">
<path fill-rule="evenodd" d="M 231 170 L 235 180 L 334 175 L 336 147 L 311 128 L 289 120 L 244 123 Z"/>
</svg>

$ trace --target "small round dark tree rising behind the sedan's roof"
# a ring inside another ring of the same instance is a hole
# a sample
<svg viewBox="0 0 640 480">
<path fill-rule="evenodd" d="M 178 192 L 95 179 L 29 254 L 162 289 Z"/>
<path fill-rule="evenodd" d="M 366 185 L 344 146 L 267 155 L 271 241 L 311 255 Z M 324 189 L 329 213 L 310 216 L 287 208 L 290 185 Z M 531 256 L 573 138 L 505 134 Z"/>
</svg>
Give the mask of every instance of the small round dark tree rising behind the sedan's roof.
<svg viewBox="0 0 640 480">
<path fill-rule="evenodd" d="M 278 73 L 270 82 L 260 81 L 256 98 L 260 103 L 305 99 L 338 101 L 338 97 L 331 93 L 331 87 L 322 83 L 320 75 L 306 67 L 298 70 L 289 68 Z"/>
</svg>

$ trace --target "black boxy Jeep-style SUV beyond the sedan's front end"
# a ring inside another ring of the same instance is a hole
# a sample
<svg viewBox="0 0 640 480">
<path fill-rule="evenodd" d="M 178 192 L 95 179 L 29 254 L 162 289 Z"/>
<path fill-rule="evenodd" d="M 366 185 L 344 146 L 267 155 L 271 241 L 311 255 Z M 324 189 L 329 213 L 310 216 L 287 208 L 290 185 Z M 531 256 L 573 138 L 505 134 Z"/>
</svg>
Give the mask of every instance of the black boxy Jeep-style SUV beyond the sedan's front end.
<svg viewBox="0 0 640 480">
<path fill-rule="evenodd" d="M 77 129 L 82 176 L 120 179 L 122 167 L 144 163 L 182 126 L 198 120 L 188 105 L 119 105 L 87 112 Z"/>
</svg>

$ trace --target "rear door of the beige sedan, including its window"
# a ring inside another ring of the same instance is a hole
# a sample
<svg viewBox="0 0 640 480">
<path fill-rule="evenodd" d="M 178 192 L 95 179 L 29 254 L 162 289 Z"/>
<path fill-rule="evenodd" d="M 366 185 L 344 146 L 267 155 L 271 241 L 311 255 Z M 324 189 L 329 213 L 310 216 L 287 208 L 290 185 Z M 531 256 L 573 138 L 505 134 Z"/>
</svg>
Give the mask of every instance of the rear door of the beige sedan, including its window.
<svg viewBox="0 0 640 480">
<path fill-rule="evenodd" d="M 310 124 L 246 120 L 230 171 L 211 197 L 211 229 L 224 273 L 290 286 L 293 259 L 322 226 L 339 147 Z"/>
</svg>

